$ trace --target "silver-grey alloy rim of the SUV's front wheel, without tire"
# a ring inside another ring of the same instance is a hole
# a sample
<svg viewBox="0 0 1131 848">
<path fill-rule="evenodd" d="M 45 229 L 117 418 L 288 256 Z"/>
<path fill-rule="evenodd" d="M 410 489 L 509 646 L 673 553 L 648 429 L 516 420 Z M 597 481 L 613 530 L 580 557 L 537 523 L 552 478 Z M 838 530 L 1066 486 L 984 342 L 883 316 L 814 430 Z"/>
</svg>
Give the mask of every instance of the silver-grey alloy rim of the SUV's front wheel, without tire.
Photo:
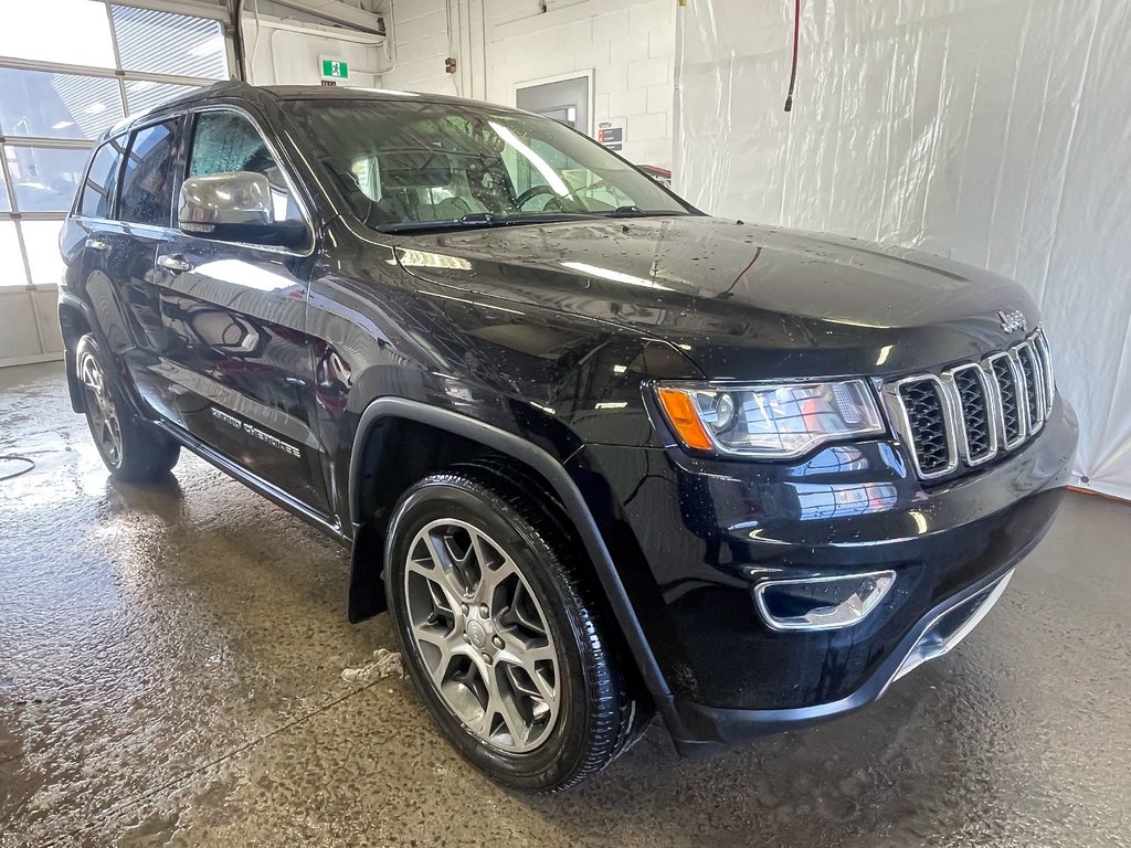
<svg viewBox="0 0 1131 848">
<path fill-rule="evenodd" d="M 515 560 L 483 530 L 440 519 L 413 538 L 404 591 L 428 676 L 467 730 L 508 753 L 545 742 L 561 709 L 558 650 Z"/>
</svg>

